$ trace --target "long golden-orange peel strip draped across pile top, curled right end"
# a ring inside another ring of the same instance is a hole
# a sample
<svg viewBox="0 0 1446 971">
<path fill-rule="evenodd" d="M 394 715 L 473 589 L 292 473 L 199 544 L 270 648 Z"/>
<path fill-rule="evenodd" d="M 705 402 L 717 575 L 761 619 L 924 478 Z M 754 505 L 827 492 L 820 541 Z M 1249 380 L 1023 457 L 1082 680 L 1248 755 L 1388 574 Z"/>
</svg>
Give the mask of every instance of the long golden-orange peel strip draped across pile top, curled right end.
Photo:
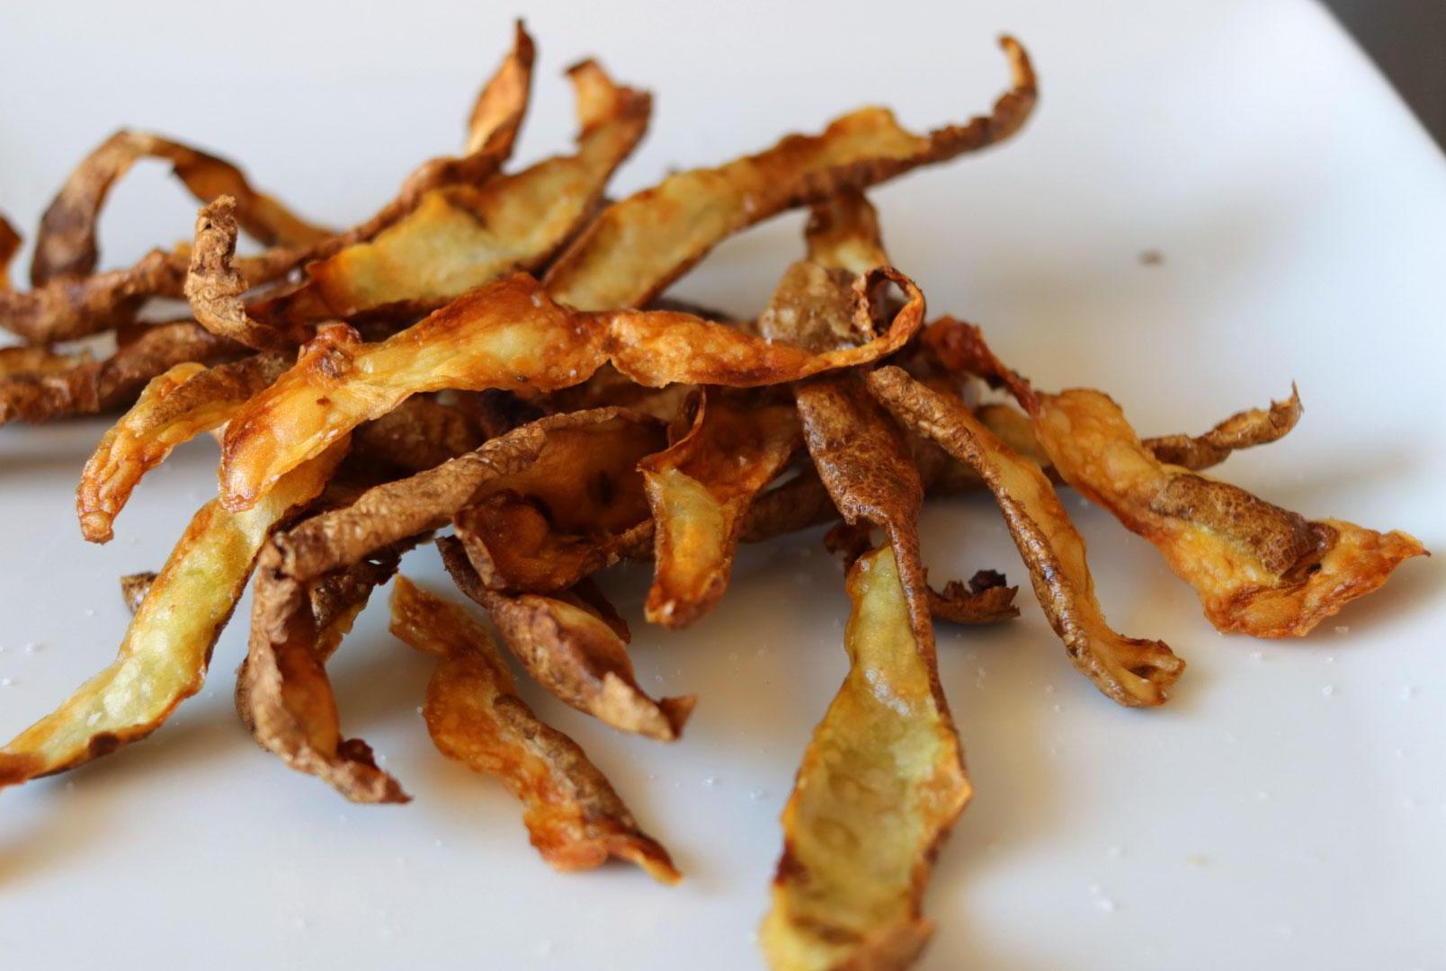
<svg viewBox="0 0 1446 971">
<path fill-rule="evenodd" d="M 584 381 L 606 361 L 648 386 L 753 387 L 878 360 L 908 341 L 924 312 L 923 293 L 892 269 L 859 280 L 856 312 L 869 315 L 872 295 L 889 283 L 907 302 L 888 331 L 860 347 L 820 354 L 687 314 L 571 311 L 526 273 L 471 290 L 380 344 L 362 344 L 343 325 L 322 327 L 296 367 L 227 426 L 221 501 L 246 509 L 289 468 L 421 392 L 551 392 Z"/>
</svg>

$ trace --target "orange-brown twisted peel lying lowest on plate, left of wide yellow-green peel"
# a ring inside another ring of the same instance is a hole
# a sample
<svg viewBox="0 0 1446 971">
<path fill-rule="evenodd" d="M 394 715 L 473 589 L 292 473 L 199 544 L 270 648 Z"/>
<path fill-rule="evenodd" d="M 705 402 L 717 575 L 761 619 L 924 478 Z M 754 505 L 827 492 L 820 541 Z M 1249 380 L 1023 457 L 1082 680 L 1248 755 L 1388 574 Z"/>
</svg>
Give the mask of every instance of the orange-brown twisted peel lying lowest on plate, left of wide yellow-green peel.
<svg viewBox="0 0 1446 971">
<path fill-rule="evenodd" d="M 506 785 L 548 866 L 565 873 L 619 858 L 664 884 L 681 879 L 583 748 L 518 696 L 496 644 L 467 611 L 398 577 L 392 633 L 437 656 L 422 708 L 437 748 Z"/>
</svg>

